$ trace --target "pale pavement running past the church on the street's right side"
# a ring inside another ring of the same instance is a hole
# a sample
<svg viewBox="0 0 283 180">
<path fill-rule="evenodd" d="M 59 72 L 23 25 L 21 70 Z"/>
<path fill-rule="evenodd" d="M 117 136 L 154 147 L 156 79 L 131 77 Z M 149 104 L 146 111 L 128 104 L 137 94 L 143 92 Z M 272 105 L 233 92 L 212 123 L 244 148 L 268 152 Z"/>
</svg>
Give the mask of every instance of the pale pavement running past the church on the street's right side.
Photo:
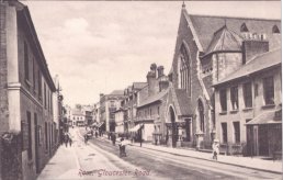
<svg viewBox="0 0 283 180">
<path fill-rule="evenodd" d="M 109 140 L 107 136 L 104 135 L 104 140 Z M 111 140 L 109 140 L 111 142 Z M 140 143 L 132 143 L 131 146 L 140 146 Z M 172 147 L 165 147 L 165 146 L 157 146 L 149 143 L 143 143 L 140 148 L 147 148 L 152 150 L 158 150 L 162 153 L 169 153 L 177 156 L 183 157 L 191 157 L 196 159 L 204 159 L 210 161 L 215 161 L 212 158 L 211 153 L 205 151 L 197 151 L 195 149 L 182 149 L 182 148 L 172 148 Z M 227 155 L 218 155 L 217 162 L 226 164 L 226 165 L 234 165 L 244 168 L 250 168 L 254 170 L 261 170 L 267 172 L 273 173 L 282 173 L 282 160 L 270 160 L 263 159 L 262 157 L 242 157 L 242 156 L 227 156 Z"/>
</svg>

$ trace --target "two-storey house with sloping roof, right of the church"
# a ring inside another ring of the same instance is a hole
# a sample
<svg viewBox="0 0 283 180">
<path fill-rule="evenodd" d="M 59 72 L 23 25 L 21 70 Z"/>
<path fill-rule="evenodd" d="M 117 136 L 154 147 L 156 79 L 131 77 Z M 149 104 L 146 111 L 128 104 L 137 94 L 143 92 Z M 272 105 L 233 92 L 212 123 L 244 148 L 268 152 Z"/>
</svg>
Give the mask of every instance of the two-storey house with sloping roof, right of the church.
<svg viewBox="0 0 283 180">
<path fill-rule="evenodd" d="M 228 154 L 273 156 L 282 150 L 281 74 L 280 48 L 214 85 L 217 137 Z"/>
</svg>

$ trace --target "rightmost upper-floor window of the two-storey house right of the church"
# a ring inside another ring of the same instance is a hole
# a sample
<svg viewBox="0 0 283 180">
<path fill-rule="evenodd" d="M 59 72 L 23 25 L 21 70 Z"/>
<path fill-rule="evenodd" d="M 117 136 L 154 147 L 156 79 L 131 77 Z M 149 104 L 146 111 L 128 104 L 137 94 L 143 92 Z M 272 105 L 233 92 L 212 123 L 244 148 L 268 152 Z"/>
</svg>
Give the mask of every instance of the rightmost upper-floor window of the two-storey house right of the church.
<svg viewBox="0 0 283 180">
<path fill-rule="evenodd" d="M 265 105 L 274 104 L 274 81 L 273 77 L 263 78 L 263 94 Z"/>
</svg>

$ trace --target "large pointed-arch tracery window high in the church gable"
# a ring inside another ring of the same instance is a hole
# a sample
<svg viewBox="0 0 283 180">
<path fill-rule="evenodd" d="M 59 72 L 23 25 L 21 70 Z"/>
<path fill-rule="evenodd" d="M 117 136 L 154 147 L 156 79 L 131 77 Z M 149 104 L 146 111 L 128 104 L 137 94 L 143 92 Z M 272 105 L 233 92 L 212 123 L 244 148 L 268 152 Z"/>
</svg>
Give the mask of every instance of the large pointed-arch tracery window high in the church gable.
<svg viewBox="0 0 283 180">
<path fill-rule="evenodd" d="M 178 88 L 190 92 L 190 58 L 185 46 L 182 44 L 178 59 Z"/>
</svg>

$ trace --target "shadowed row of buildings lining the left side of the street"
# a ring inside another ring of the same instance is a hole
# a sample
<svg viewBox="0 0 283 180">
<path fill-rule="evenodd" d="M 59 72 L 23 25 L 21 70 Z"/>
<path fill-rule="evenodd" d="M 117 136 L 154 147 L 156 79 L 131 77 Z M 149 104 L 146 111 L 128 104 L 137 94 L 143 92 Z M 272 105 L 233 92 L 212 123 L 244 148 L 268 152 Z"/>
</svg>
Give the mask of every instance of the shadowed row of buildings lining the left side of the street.
<svg viewBox="0 0 283 180">
<path fill-rule="evenodd" d="M 26 5 L 0 1 L 0 179 L 35 179 L 59 145 L 63 95 Z"/>
</svg>

